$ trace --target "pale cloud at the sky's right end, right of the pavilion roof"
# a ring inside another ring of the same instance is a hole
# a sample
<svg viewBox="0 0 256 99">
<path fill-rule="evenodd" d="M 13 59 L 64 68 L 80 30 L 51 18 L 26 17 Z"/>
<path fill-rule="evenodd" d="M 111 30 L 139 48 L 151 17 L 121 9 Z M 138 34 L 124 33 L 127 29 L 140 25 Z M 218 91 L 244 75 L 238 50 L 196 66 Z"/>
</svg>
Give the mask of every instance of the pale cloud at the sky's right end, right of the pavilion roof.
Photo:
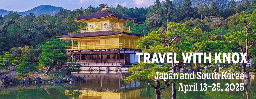
<svg viewBox="0 0 256 99">
<path fill-rule="evenodd" d="M 154 4 L 154 0 L 133 0 L 133 5 L 135 7 L 149 7 Z"/>
</svg>

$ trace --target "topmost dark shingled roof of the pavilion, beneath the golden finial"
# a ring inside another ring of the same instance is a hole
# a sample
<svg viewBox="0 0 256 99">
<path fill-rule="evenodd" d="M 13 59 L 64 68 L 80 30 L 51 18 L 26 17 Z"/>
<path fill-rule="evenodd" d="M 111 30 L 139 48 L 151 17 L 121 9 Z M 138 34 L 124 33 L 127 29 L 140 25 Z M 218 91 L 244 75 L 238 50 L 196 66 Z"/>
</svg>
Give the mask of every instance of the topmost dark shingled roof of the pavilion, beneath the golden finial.
<svg viewBox="0 0 256 99">
<path fill-rule="evenodd" d="M 120 19 L 127 19 L 127 20 L 135 20 L 136 18 L 130 18 L 130 17 L 125 17 L 119 14 L 116 14 L 115 12 L 109 11 L 109 10 L 101 10 L 95 13 L 92 13 L 90 15 L 82 16 L 82 17 L 74 17 L 74 19 L 81 20 L 81 19 L 97 19 L 97 18 L 104 18 L 108 17 L 111 14 L 113 14 L 115 17 L 120 18 Z"/>
</svg>

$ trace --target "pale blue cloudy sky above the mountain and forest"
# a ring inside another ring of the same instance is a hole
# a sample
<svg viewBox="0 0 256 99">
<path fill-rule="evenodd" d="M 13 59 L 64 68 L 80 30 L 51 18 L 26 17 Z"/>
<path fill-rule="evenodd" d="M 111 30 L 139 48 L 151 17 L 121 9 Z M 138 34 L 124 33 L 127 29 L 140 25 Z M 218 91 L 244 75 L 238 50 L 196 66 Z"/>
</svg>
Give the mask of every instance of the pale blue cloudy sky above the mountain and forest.
<svg viewBox="0 0 256 99">
<path fill-rule="evenodd" d="M 92 5 L 99 6 L 107 3 L 108 6 L 116 7 L 118 4 L 127 7 L 148 7 L 153 5 L 155 0 L 0 0 L 0 9 L 7 11 L 27 11 L 40 5 L 52 5 L 74 10 L 80 7 L 86 9 Z"/>
</svg>

